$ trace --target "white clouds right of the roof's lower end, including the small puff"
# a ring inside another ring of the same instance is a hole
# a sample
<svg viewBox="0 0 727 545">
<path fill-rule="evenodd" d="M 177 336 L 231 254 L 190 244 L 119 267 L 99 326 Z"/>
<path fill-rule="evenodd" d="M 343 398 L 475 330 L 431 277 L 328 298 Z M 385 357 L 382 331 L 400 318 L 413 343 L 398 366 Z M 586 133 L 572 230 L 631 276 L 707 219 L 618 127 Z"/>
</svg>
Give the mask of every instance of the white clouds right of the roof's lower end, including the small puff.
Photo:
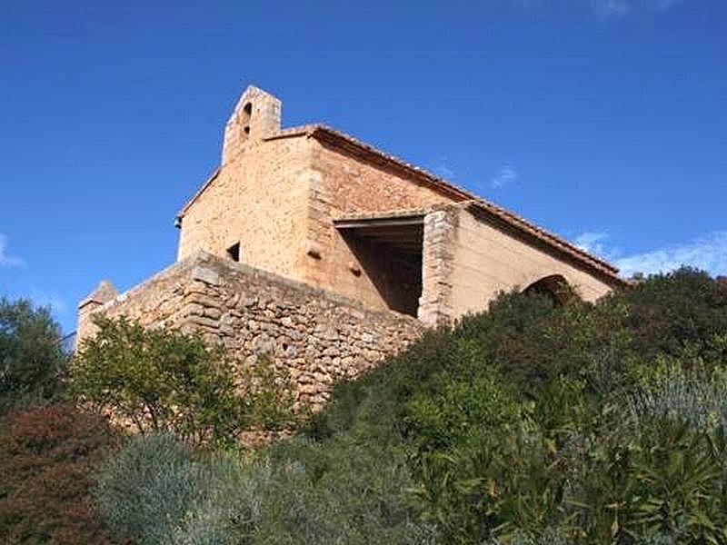
<svg viewBox="0 0 727 545">
<path fill-rule="evenodd" d="M 673 271 L 682 265 L 696 267 L 715 276 L 727 273 L 727 231 L 632 255 L 622 255 L 620 249 L 610 245 L 608 240 L 608 233 L 585 232 L 575 237 L 574 243 L 588 253 L 611 260 L 627 277 L 634 272 Z"/>
</svg>

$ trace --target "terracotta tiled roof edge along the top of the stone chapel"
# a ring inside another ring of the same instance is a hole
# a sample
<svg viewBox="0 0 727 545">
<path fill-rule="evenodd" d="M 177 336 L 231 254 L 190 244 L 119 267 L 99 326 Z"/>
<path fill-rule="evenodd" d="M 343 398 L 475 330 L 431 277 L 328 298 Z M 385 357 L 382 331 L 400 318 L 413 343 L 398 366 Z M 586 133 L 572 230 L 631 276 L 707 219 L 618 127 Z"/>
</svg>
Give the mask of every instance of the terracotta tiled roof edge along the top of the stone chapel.
<svg viewBox="0 0 727 545">
<path fill-rule="evenodd" d="M 611 263 L 608 263 L 591 253 L 583 251 L 581 248 L 578 248 L 573 245 L 573 243 L 568 242 L 557 234 L 550 233 L 542 227 L 529 222 L 520 215 L 513 213 L 498 204 L 487 201 L 479 195 L 445 180 L 436 174 L 430 173 L 419 166 L 407 163 L 395 155 L 386 154 L 378 148 L 373 147 L 373 145 L 366 144 L 350 134 L 342 133 L 341 131 L 337 131 L 324 124 L 305 124 L 283 129 L 275 134 L 266 136 L 264 140 L 277 140 L 280 138 L 290 138 L 295 136 L 313 137 L 324 144 L 334 145 L 335 147 L 344 149 L 350 153 L 363 155 L 374 162 L 385 163 L 401 169 L 403 172 L 415 177 L 419 182 L 426 183 L 433 187 L 433 189 L 448 195 L 453 199 L 453 201 L 474 207 L 479 211 L 492 216 L 494 219 L 513 227 L 516 231 L 532 236 L 561 253 L 566 253 L 576 261 L 602 272 L 606 276 L 610 277 L 613 282 L 622 284 L 628 283 L 619 276 L 618 268 L 614 267 Z M 217 173 L 219 173 L 219 169 L 210 176 L 200 190 L 194 194 L 194 197 L 190 200 L 190 202 L 184 206 L 182 211 L 179 213 L 180 216 L 184 215 L 189 206 L 194 203 L 197 197 L 204 192 L 204 189 L 212 183 L 214 178 L 217 176 Z"/>
</svg>

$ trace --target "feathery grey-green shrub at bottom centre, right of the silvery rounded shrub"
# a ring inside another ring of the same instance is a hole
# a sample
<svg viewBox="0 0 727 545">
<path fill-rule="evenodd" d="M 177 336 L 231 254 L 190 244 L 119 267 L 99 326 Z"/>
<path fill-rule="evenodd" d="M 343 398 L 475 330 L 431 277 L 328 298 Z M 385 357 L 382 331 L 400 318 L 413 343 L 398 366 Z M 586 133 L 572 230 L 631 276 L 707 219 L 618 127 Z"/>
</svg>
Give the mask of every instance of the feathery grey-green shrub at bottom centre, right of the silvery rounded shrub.
<svg viewBox="0 0 727 545">
<path fill-rule="evenodd" d="M 361 439 L 276 445 L 255 542 L 433 543 L 433 525 L 416 520 L 405 493 L 414 481 L 403 452 Z"/>
</svg>

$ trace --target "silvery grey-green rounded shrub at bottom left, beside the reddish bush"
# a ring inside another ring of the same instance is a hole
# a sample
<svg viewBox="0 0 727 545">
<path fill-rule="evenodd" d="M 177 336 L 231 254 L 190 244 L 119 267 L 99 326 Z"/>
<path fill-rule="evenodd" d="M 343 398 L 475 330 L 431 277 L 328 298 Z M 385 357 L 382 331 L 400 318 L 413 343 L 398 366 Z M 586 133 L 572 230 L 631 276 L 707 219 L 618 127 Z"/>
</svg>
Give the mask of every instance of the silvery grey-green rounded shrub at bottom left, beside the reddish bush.
<svg viewBox="0 0 727 545">
<path fill-rule="evenodd" d="M 138 436 L 101 468 L 96 495 L 108 526 L 136 543 L 236 543 L 244 524 L 232 522 L 253 518 L 237 502 L 241 469 L 198 459 L 171 434 Z"/>
</svg>

